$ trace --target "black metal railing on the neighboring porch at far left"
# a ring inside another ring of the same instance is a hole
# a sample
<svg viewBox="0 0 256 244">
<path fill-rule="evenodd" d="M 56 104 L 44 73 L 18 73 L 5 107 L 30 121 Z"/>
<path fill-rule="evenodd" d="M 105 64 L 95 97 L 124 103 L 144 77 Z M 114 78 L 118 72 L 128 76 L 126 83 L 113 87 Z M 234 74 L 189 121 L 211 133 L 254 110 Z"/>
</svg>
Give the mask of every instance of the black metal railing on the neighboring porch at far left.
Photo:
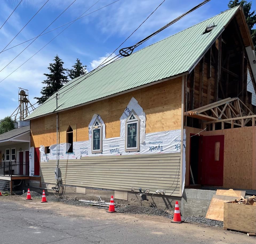
<svg viewBox="0 0 256 244">
<path fill-rule="evenodd" d="M 0 175 L 29 176 L 29 162 L 2 162 L 0 163 Z"/>
</svg>

